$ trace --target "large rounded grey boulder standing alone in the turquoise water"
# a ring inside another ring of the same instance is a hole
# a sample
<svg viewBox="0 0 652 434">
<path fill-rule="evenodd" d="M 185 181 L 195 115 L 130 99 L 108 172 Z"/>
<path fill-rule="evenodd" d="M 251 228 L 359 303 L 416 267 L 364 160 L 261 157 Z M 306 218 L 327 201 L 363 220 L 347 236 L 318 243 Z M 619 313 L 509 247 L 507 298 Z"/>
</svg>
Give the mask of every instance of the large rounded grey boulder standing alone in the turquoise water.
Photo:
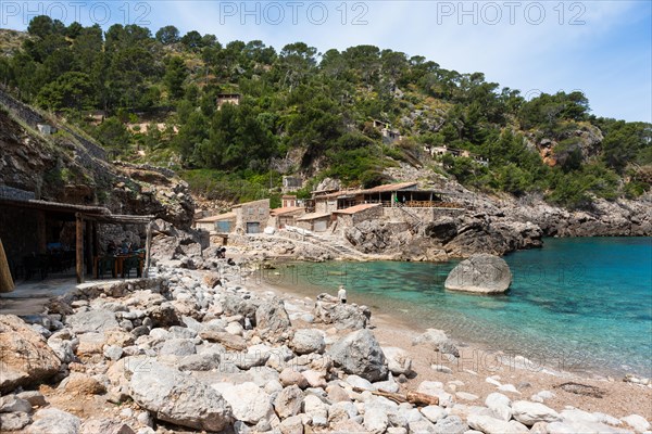
<svg viewBox="0 0 652 434">
<path fill-rule="evenodd" d="M 497 294 L 507 291 L 512 271 L 504 259 L 488 254 L 473 255 L 449 273 L 444 286 L 451 291 Z"/>
</svg>

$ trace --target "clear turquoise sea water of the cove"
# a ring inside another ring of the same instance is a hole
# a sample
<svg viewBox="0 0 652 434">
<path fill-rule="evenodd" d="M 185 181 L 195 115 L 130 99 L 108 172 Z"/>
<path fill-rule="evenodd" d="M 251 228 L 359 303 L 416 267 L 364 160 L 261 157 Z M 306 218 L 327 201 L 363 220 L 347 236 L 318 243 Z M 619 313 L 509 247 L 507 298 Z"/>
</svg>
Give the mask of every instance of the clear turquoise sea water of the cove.
<svg viewBox="0 0 652 434">
<path fill-rule="evenodd" d="M 652 376 L 652 238 L 547 239 L 505 256 L 505 295 L 443 289 L 456 263 L 298 264 L 265 276 L 306 295 L 347 285 L 352 303 L 415 329 L 566 371 Z"/>
</svg>

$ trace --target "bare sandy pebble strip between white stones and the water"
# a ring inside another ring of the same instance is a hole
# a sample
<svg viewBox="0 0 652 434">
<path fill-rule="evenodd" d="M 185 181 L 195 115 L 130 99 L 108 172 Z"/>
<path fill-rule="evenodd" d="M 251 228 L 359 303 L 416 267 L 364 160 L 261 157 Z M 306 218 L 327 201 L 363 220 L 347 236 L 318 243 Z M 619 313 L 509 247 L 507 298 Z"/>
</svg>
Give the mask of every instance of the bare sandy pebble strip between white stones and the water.
<svg viewBox="0 0 652 434">
<path fill-rule="evenodd" d="M 274 292 L 284 298 L 286 304 L 300 310 L 310 311 L 313 307 L 314 298 L 298 293 L 296 289 L 272 285 L 267 282 L 243 283 L 254 292 Z M 302 324 L 300 320 L 293 322 L 298 328 L 328 328 L 324 324 Z M 554 397 L 546 399 L 546 405 L 557 411 L 572 406 L 617 418 L 637 413 L 648 420 L 652 419 L 652 388 L 649 386 L 624 382 L 622 378 L 589 376 L 586 372 L 556 370 L 552 367 L 539 366 L 537 362 L 528 362 L 517 354 L 497 353 L 481 345 L 464 342 L 455 342 L 460 349 L 460 358 L 450 360 L 427 345 L 412 345 L 413 339 L 425 330 L 414 329 L 393 316 L 379 315 L 375 311 L 372 311 L 371 323 L 374 334 L 383 346 L 400 347 L 413 359 L 413 370 L 416 375 L 401 385 L 402 392 L 416 390 L 422 381 L 438 381 L 443 383 L 447 392 L 455 396 L 457 404 L 482 406 L 487 395 L 492 392 L 503 393 L 513 400 L 531 400 L 532 395 L 541 391 L 550 391 Z M 553 355 L 550 356 L 552 358 Z M 436 371 L 431 368 L 432 365 L 450 368 L 452 373 Z M 493 378 L 496 382 L 507 387 L 513 385 L 517 392 L 499 390 L 496 384 L 487 381 L 488 378 Z M 602 397 L 567 392 L 561 387 L 566 383 L 597 387 Z M 462 394 L 456 395 L 459 392 Z M 469 399 L 472 396 L 466 394 L 475 395 L 477 398 Z"/>
</svg>

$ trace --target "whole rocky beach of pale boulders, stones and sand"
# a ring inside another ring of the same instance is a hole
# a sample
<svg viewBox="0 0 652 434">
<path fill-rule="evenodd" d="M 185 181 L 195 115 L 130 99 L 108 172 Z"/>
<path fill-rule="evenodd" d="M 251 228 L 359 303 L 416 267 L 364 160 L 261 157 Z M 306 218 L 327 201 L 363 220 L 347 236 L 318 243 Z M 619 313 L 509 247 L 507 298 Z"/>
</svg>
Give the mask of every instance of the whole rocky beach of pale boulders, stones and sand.
<svg viewBox="0 0 652 434">
<path fill-rule="evenodd" d="M 150 279 L 0 317 L 2 432 L 650 431 L 648 379 L 555 370 L 292 294 L 238 252 L 160 258 Z"/>
</svg>

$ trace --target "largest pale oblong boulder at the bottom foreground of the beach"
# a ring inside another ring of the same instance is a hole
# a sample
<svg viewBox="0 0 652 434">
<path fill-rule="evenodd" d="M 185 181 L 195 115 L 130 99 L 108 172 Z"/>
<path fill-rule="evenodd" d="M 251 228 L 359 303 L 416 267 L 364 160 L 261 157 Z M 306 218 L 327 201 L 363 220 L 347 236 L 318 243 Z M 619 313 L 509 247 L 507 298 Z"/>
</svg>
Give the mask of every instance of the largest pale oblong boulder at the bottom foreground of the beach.
<svg viewBox="0 0 652 434">
<path fill-rule="evenodd" d="M 155 361 L 135 362 L 131 398 L 158 419 L 195 430 L 222 431 L 233 421 L 228 403 L 209 385 Z"/>
</svg>

